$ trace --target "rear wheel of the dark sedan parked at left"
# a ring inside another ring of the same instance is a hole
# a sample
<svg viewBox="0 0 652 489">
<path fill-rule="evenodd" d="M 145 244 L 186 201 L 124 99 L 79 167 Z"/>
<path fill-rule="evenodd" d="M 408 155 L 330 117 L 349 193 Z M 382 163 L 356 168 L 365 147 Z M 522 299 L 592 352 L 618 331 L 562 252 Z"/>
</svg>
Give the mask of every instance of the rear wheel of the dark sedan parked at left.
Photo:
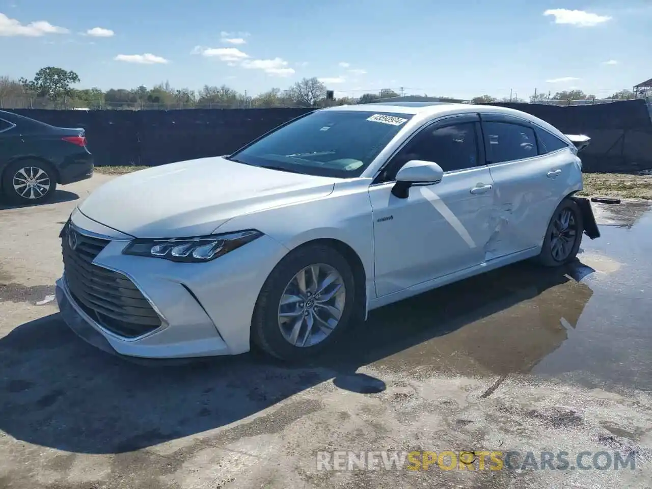
<svg viewBox="0 0 652 489">
<path fill-rule="evenodd" d="M 8 203 L 27 205 L 52 199 L 57 181 L 50 164 L 38 160 L 19 160 L 5 168 L 0 185 Z"/>
</svg>

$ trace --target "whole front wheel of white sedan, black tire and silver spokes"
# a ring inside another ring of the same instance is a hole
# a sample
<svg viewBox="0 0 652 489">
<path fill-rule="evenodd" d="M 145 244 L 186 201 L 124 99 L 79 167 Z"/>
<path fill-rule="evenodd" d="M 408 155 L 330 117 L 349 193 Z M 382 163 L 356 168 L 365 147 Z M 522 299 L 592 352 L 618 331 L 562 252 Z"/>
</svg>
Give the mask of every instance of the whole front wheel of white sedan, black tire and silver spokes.
<svg viewBox="0 0 652 489">
<path fill-rule="evenodd" d="M 317 282 L 321 285 L 327 282 L 326 277 L 332 280 L 338 276 L 331 284 L 323 287 L 319 295 L 319 287 L 315 287 L 312 279 L 314 267 L 318 267 Z M 304 273 L 303 288 L 306 291 L 303 294 L 300 291 L 300 280 L 297 280 L 300 273 Z M 333 297 L 324 300 L 324 297 L 331 294 Z M 286 304 L 281 304 L 282 297 L 286 297 Z M 291 298 L 293 300 L 290 301 Z M 341 312 L 338 321 L 333 322 L 334 316 L 329 312 L 331 309 L 325 307 L 328 305 Z M 346 332 L 353 310 L 355 277 L 346 258 L 330 246 L 307 244 L 285 256 L 267 277 L 254 308 L 252 342 L 281 360 L 297 361 L 314 357 Z M 289 317 L 281 318 L 282 314 Z M 295 330 L 293 326 L 299 321 L 302 321 L 301 325 Z M 309 328 L 311 322 L 312 329 Z M 330 323 L 329 327 L 325 323 Z M 298 333 L 293 343 L 294 331 Z M 304 334 L 311 331 L 311 336 Z M 303 346 L 300 345 L 302 340 Z"/>
</svg>

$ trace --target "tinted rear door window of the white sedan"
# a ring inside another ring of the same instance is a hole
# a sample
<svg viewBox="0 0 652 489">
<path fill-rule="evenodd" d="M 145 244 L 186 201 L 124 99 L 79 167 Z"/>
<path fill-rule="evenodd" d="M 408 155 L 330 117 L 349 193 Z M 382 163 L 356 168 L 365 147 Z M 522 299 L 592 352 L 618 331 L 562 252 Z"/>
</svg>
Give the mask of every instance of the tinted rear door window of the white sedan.
<svg viewBox="0 0 652 489">
<path fill-rule="evenodd" d="M 537 156 L 533 128 L 512 123 L 483 122 L 487 163 L 503 163 Z"/>
</svg>

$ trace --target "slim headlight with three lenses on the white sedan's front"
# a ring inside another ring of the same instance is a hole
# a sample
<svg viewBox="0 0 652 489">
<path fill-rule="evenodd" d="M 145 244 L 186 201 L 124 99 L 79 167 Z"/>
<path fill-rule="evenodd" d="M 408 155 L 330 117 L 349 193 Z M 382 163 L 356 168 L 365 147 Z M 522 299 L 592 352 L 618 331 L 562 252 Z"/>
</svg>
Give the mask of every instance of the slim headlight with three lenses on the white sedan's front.
<svg viewBox="0 0 652 489">
<path fill-rule="evenodd" d="M 263 233 L 256 230 L 215 234 L 194 238 L 134 239 L 125 246 L 123 254 L 164 258 L 170 261 L 200 263 L 210 261 L 254 241 Z"/>
</svg>

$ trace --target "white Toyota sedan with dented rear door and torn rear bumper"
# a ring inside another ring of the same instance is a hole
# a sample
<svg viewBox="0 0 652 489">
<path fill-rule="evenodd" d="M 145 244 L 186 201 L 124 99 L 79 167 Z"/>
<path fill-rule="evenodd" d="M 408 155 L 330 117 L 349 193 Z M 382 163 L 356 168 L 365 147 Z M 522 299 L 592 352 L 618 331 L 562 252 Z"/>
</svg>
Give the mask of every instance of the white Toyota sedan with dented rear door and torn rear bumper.
<svg viewBox="0 0 652 489">
<path fill-rule="evenodd" d="M 574 196 L 588 143 L 493 106 L 314 111 L 232 155 L 95 190 L 61 231 L 59 309 L 121 355 L 310 357 L 374 308 L 574 259 L 600 235 Z"/>
</svg>

